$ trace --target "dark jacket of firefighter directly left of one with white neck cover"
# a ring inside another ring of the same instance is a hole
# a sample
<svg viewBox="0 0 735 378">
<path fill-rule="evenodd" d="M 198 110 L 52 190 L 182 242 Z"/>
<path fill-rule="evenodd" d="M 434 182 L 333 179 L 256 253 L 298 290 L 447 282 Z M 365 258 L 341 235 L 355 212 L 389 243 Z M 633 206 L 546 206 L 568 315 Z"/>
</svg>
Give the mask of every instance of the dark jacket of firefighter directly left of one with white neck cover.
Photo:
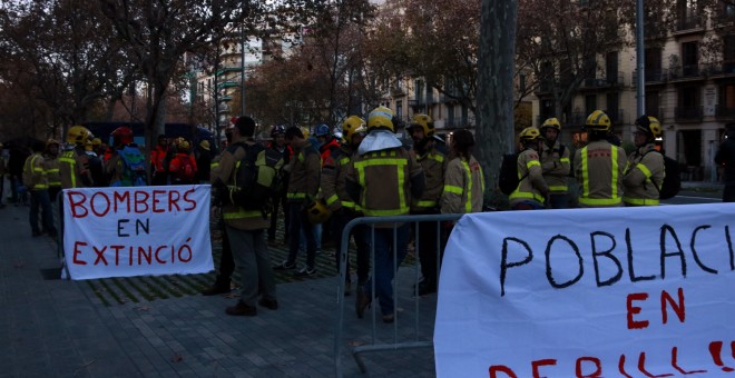
<svg viewBox="0 0 735 378">
<path fill-rule="evenodd" d="M 352 200 L 345 187 L 347 168 L 352 162 L 353 153 L 354 151 L 345 145 L 330 153 L 322 161 L 320 197 L 324 199 L 324 203 L 332 211 L 340 209 L 345 209 L 353 213 L 360 211 L 360 207 Z"/>
</svg>

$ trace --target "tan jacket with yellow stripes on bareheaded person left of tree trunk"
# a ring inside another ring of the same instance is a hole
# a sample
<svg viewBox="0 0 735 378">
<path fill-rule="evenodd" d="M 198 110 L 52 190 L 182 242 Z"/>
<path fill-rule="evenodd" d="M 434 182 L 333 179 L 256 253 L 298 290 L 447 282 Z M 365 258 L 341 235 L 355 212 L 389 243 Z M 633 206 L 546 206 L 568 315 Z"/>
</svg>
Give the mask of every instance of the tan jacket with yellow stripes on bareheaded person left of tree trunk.
<svg viewBox="0 0 735 378">
<path fill-rule="evenodd" d="M 470 159 L 455 157 L 447 163 L 444 188 L 441 195 L 441 212 L 465 213 L 482 211 L 484 176 L 482 167 Z"/>
</svg>

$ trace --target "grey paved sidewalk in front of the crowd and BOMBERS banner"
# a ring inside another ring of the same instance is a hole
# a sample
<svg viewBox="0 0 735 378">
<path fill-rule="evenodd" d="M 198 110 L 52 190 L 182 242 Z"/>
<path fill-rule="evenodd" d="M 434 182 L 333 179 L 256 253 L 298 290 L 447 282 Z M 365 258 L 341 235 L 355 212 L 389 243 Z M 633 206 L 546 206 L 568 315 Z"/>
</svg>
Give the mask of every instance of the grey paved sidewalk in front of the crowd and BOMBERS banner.
<svg viewBox="0 0 735 378">
<path fill-rule="evenodd" d="M 45 280 L 58 268 L 56 245 L 31 238 L 28 207 L 0 209 L 0 377 L 332 377 L 336 278 L 278 285 L 281 308 L 256 317 L 229 317 L 225 297 L 182 298 L 105 306 L 85 281 Z M 402 272 L 406 297 L 412 271 Z M 342 367 L 345 377 L 433 377 L 431 349 L 364 355 L 361 374 L 350 346 L 371 340 L 369 317 L 345 309 Z M 419 339 L 433 332 L 435 296 L 420 308 L 400 308 L 400 335 L 414 310 Z M 404 330 L 409 328 L 409 330 Z M 378 338 L 392 325 L 378 321 Z"/>
</svg>

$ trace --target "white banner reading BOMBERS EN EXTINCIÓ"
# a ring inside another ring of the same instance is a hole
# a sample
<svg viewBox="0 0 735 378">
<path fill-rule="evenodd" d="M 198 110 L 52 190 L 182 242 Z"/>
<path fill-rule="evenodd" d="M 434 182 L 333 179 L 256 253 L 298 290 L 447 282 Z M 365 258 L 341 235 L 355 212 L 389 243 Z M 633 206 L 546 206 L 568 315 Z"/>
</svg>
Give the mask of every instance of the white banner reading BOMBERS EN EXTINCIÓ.
<svg viewBox="0 0 735 378">
<path fill-rule="evenodd" d="M 63 190 L 71 279 L 212 271 L 209 186 Z"/>
</svg>

